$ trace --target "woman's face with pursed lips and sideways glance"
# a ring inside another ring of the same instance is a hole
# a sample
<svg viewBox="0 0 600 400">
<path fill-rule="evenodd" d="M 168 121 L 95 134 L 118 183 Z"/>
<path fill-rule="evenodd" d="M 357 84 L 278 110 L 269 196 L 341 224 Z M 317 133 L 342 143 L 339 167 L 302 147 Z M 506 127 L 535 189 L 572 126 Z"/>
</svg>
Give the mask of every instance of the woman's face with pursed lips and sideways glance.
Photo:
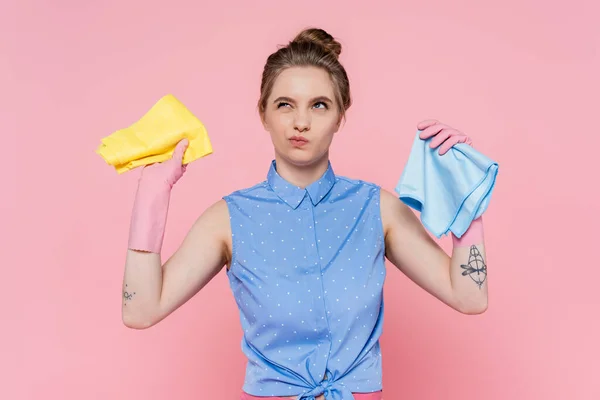
<svg viewBox="0 0 600 400">
<path fill-rule="evenodd" d="M 315 67 L 284 70 L 262 120 L 275 153 L 285 161 L 301 166 L 327 157 L 341 120 L 329 74 Z"/>
</svg>

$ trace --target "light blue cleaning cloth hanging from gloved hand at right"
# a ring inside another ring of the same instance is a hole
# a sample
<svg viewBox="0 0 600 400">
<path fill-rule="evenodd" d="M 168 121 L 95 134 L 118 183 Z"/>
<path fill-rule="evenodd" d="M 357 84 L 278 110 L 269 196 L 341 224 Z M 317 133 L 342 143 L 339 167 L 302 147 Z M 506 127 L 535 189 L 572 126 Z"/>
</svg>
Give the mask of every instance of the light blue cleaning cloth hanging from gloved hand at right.
<svg viewBox="0 0 600 400">
<path fill-rule="evenodd" d="M 440 156 L 432 138 L 413 142 L 396 193 L 421 213 L 423 226 L 437 238 L 452 232 L 460 238 L 487 209 L 496 184 L 498 163 L 473 147 L 458 143 Z"/>
</svg>

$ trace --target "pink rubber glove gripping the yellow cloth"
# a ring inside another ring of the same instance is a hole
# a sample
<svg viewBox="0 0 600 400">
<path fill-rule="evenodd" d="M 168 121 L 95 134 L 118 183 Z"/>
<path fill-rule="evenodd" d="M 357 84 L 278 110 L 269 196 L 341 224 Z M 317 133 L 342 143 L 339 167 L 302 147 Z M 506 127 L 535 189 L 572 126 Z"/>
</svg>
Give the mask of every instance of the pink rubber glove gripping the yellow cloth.
<svg viewBox="0 0 600 400">
<path fill-rule="evenodd" d="M 128 245 L 131 250 L 160 253 L 171 189 L 186 170 L 183 154 L 188 143 L 187 139 L 180 141 L 169 160 L 144 166 L 131 214 Z"/>
</svg>

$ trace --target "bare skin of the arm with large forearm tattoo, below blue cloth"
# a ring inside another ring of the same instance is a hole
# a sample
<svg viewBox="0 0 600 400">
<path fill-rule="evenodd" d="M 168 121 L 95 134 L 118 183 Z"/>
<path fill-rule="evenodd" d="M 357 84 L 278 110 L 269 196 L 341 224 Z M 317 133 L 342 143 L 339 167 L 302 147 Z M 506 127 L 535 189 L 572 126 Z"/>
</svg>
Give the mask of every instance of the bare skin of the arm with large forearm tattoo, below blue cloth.
<svg viewBox="0 0 600 400">
<path fill-rule="evenodd" d="M 392 264 L 431 295 L 461 313 L 479 314 L 487 309 L 487 279 L 478 275 L 484 272 L 481 270 L 485 262 L 483 243 L 471 247 L 455 245 L 452 257 L 449 257 L 429 236 L 412 210 L 383 189 L 381 215 L 386 257 Z M 471 252 L 480 254 L 480 263 L 470 262 Z M 463 274 L 465 271 L 467 273 Z"/>
</svg>

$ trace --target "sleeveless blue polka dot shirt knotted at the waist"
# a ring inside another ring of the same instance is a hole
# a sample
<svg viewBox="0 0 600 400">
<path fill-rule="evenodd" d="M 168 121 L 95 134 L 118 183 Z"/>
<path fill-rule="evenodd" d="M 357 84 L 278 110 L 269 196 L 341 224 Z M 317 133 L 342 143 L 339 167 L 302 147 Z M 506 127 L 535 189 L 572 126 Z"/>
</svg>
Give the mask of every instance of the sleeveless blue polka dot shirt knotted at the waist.
<svg viewBox="0 0 600 400">
<path fill-rule="evenodd" d="M 273 161 L 267 179 L 224 197 L 229 284 L 254 396 L 353 399 L 382 389 L 385 243 L 380 188 L 336 176 L 305 189 Z"/>
</svg>

